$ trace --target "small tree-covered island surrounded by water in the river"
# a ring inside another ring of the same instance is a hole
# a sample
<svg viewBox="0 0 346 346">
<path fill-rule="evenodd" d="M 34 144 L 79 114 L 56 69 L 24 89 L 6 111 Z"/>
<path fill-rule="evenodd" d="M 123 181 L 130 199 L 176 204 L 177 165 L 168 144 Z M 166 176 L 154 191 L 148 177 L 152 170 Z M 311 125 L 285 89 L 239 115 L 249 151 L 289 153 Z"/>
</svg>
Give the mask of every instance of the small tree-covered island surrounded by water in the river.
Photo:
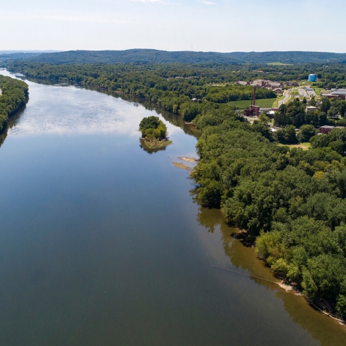
<svg viewBox="0 0 346 346">
<path fill-rule="evenodd" d="M 158 116 L 148 116 L 143 118 L 139 124 L 139 131 L 142 133 L 141 140 L 152 149 L 166 147 L 172 143 L 167 139 L 167 127 Z"/>
</svg>

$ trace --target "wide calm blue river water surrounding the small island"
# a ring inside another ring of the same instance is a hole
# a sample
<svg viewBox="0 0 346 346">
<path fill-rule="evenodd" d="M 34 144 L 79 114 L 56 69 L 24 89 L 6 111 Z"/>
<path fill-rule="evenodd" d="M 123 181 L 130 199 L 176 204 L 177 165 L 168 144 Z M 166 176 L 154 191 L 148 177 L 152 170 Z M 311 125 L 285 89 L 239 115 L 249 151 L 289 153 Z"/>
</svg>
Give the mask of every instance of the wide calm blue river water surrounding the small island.
<svg viewBox="0 0 346 346">
<path fill-rule="evenodd" d="M 0 148 L 1 345 L 345 345 L 194 203 L 172 164 L 192 128 L 161 112 L 173 145 L 147 152 L 152 106 L 26 82 Z"/>
</svg>

